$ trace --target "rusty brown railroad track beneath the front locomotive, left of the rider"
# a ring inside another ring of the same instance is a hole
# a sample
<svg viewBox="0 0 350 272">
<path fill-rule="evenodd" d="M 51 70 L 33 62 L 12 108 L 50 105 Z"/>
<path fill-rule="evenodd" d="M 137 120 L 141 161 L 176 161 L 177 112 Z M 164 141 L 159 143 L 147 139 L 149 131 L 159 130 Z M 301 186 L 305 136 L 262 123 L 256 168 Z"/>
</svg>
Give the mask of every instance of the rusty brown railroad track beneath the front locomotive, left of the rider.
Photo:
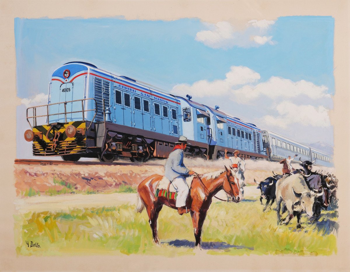
<svg viewBox="0 0 350 272">
<path fill-rule="evenodd" d="M 161 164 L 146 163 L 132 163 L 125 162 L 123 160 L 117 160 L 113 163 L 102 163 L 102 162 L 66 162 L 64 160 L 39 160 L 39 159 L 15 159 L 15 164 L 26 164 L 26 165 L 149 165 L 149 166 L 162 166 Z"/>
</svg>

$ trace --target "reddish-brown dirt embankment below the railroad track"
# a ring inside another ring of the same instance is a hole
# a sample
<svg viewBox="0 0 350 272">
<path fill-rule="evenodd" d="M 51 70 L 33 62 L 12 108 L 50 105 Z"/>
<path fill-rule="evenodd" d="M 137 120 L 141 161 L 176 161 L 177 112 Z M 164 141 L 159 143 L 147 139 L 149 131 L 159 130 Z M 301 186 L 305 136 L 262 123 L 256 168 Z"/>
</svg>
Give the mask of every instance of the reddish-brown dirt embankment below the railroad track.
<svg viewBox="0 0 350 272">
<path fill-rule="evenodd" d="M 79 192 L 114 192 L 121 185 L 136 187 L 142 180 L 153 174 L 163 174 L 165 160 L 156 160 L 148 164 L 131 165 L 28 165 L 15 164 L 15 188 L 18 196 L 31 189 L 45 193 L 48 190 L 60 191 L 72 188 Z M 185 159 L 185 165 L 201 174 L 224 169 L 228 160 Z M 159 165 L 156 165 L 159 164 Z M 300 168 L 294 164 L 295 168 Z M 314 167 L 317 170 L 318 167 Z M 323 169 L 333 172 L 334 169 Z M 281 164 L 276 162 L 246 160 L 245 179 L 247 184 L 264 180 L 274 173 L 281 173 Z"/>
</svg>

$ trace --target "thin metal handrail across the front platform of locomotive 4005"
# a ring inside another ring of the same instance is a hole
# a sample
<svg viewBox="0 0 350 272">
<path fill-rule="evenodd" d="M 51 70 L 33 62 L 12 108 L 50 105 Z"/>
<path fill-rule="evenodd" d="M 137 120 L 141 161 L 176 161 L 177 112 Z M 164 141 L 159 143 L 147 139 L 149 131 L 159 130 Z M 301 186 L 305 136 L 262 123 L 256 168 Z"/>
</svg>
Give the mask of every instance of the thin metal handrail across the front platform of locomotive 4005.
<svg viewBox="0 0 350 272">
<path fill-rule="evenodd" d="M 84 109 L 84 101 L 86 100 L 93 100 L 95 102 L 95 108 L 94 109 Z M 75 111 L 72 111 L 72 112 L 67 112 L 67 103 L 72 103 L 72 102 L 78 102 L 78 101 L 81 101 L 82 102 L 82 109 L 81 110 L 75 110 Z M 64 104 L 64 112 L 58 112 L 58 113 L 50 113 L 49 114 L 49 107 L 52 106 L 52 105 L 58 105 L 58 104 Z M 46 107 L 46 114 L 43 114 L 43 115 L 36 115 L 36 109 L 37 108 L 40 108 L 40 107 Z M 33 116 L 28 116 L 28 110 L 29 109 L 33 109 Z M 36 119 L 38 117 L 46 117 L 46 122 L 47 122 L 47 126 L 49 126 L 49 116 L 53 116 L 53 115 L 59 115 L 59 114 L 64 114 L 64 121 L 65 123 L 67 123 L 67 114 L 70 114 L 70 113 L 82 113 L 82 117 L 83 117 L 83 122 L 85 121 L 85 117 L 84 117 L 84 113 L 85 112 L 91 112 L 91 111 L 94 111 L 95 114 L 91 120 L 91 123 L 88 127 L 88 129 L 90 128 L 93 120 L 95 119 L 96 117 L 96 114 L 97 114 L 97 102 L 95 99 L 93 98 L 85 98 L 85 99 L 78 99 L 78 100 L 71 100 L 71 101 L 65 101 L 65 102 L 58 102 L 58 103 L 52 103 L 52 104 L 46 104 L 46 105 L 40 105 L 40 106 L 34 106 L 34 107 L 29 107 L 27 108 L 27 122 L 29 124 L 29 126 L 32 128 L 32 127 L 36 127 Z M 29 119 L 33 119 L 33 126 L 31 125 Z"/>
</svg>

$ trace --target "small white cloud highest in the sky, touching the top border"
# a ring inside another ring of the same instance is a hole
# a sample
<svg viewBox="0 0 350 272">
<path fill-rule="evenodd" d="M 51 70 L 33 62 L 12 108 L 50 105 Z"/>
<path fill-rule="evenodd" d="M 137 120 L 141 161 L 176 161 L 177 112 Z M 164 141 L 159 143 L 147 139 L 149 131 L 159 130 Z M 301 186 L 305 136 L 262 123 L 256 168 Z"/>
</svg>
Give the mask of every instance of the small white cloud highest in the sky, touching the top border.
<svg viewBox="0 0 350 272">
<path fill-rule="evenodd" d="M 211 48 L 227 49 L 233 46 L 246 48 L 265 43 L 273 45 L 272 36 L 265 36 L 265 34 L 274 23 L 267 20 L 251 20 L 244 30 L 236 29 L 229 22 L 205 23 L 208 30 L 199 31 L 195 39 Z"/>
</svg>

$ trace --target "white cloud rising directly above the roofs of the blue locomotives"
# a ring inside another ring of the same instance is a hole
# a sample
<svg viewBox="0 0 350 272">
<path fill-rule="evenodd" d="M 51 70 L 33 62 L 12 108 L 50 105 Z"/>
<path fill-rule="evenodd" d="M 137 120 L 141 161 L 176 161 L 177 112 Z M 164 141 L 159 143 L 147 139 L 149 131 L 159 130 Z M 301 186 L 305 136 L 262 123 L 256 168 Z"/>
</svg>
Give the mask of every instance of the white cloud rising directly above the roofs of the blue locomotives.
<svg viewBox="0 0 350 272">
<path fill-rule="evenodd" d="M 173 87 L 172 92 L 179 95 L 191 94 L 197 97 L 224 95 L 239 85 L 254 83 L 260 79 L 260 74 L 248 67 L 231 66 L 224 80 L 199 80 L 194 84 L 178 84 Z"/>
</svg>

